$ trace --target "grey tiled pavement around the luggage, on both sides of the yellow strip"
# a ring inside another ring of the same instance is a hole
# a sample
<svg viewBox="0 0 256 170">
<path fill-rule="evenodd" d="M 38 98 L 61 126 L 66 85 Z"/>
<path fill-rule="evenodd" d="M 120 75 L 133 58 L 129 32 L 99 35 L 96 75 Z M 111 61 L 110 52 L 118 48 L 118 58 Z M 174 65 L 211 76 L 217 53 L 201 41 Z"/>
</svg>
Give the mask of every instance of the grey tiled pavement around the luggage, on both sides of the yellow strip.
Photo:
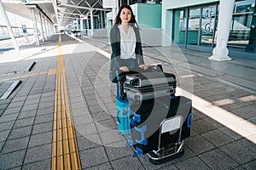
<svg viewBox="0 0 256 170">
<path fill-rule="evenodd" d="M 64 35 L 61 39 L 83 169 L 255 169 L 256 144 L 195 109 L 184 156 L 157 166 L 149 163 L 147 156 L 133 158 L 133 150 L 124 146 L 126 139 L 116 130 L 115 86 L 108 81 L 109 59 L 97 49 L 110 53 L 108 40 L 88 38 L 76 42 Z M 31 75 L 21 77 L 20 87 L 8 99 L 0 100 L 0 169 L 51 167 L 55 74 L 49 70 L 56 67 L 57 40 L 55 35 L 45 43 L 43 46 L 49 50 L 42 53 L 24 49 L 32 53 L 28 59 L 0 63 L 0 79 Z M 166 63 L 165 71 L 177 75 L 179 87 L 256 124 L 255 62 L 214 62 L 207 59 L 209 54 L 190 50 L 181 53 L 177 48 L 172 48 L 172 56 L 165 58 L 166 49 L 143 48 L 144 54 L 151 57 L 147 63 Z M 37 64 L 31 72 L 3 75 L 5 71 L 22 70 L 34 60 Z M 172 65 L 168 65 L 170 62 Z"/>
</svg>

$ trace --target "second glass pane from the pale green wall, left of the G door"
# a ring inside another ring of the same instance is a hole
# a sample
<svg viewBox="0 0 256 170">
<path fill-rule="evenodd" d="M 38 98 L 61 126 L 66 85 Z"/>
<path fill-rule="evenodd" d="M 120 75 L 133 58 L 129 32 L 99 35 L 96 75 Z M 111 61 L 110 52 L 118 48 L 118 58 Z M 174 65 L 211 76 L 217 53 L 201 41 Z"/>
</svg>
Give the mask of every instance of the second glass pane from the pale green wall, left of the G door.
<svg viewBox="0 0 256 170">
<path fill-rule="evenodd" d="M 197 45 L 198 33 L 200 28 L 200 12 L 201 8 L 189 9 L 189 26 L 187 44 Z"/>
</svg>

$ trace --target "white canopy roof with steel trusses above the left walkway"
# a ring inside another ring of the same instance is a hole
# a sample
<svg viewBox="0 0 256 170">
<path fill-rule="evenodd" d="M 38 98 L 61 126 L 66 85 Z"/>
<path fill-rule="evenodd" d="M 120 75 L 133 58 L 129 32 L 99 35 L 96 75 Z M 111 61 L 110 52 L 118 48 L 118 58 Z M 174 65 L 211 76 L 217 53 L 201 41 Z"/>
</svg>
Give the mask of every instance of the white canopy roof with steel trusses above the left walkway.
<svg viewBox="0 0 256 170">
<path fill-rule="evenodd" d="M 44 14 L 51 23 L 67 26 L 71 20 L 93 11 L 93 15 L 100 15 L 99 11 L 111 11 L 102 8 L 102 0 L 2 0 L 5 10 L 32 20 L 30 7 L 36 7 L 36 13 Z"/>
</svg>

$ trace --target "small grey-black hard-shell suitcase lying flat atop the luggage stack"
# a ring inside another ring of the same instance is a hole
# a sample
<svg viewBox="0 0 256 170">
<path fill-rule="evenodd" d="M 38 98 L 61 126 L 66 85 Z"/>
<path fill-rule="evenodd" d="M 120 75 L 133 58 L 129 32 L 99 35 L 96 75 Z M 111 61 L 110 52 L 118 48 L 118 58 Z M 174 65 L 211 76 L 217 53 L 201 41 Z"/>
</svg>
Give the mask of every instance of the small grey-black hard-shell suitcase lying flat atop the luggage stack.
<svg viewBox="0 0 256 170">
<path fill-rule="evenodd" d="M 175 75 L 152 71 L 128 74 L 125 77 L 125 93 L 128 99 L 143 101 L 175 94 Z"/>
</svg>

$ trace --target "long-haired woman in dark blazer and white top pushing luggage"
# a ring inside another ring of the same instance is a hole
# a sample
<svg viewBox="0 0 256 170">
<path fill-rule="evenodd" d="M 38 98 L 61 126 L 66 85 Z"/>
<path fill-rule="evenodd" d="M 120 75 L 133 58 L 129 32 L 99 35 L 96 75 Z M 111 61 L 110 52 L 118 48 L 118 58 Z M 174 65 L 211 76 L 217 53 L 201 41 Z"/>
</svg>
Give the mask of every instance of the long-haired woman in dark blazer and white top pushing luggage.
<svg viewBox="0 0 256 170">
<path fill-rule="evenodd" d="M 143 59 L 143 48 L 137 21 L 129 5 L 119 8 L 110 31 L 112 48 L 109 78 L 117 82 L 116 71 L 129 71 L 136 67 L 148 69 Z"/>
</svg>

